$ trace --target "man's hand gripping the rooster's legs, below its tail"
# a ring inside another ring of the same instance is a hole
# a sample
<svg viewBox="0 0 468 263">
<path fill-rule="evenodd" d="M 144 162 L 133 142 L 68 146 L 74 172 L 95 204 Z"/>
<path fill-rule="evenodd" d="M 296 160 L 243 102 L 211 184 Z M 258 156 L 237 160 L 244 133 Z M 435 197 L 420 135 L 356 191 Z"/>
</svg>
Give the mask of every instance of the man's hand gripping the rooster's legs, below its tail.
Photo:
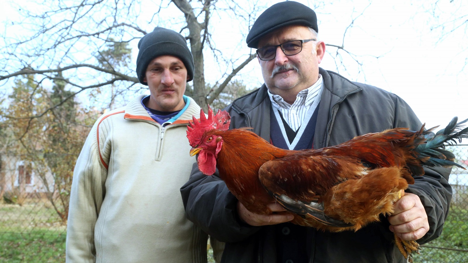
<svg viewBox="0 0 468 263">
<path fill-rule="evenodd" d="M 415 241 L 429 231 L 429 221 L 421 199 L 411 193 L 405 193 L 395 202 L 395 211 L 388 217 L 390 231 L 406 241 Z"/>
</svg>

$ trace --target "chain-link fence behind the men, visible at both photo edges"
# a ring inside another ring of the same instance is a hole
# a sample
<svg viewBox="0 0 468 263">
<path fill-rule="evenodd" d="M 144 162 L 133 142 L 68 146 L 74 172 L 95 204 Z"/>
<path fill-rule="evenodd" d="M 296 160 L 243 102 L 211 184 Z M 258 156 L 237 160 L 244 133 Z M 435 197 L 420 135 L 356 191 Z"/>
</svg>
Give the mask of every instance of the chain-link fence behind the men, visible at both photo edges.
<svg viewBox="0 0 468 263">
<path fill-rule="evenodd" d="M 450 150 L 468 167 L 468 145 Z M 3 158 L 0 168 L 0 262 L 65 262 L 66 221 L 55 207 L 60 194 L 44 192 L 27 163 Z M 422 246 L 416 263 L 468 262 L 468 172 L 453 168 L 450 183 L 444 231 Z"/>
</svg>

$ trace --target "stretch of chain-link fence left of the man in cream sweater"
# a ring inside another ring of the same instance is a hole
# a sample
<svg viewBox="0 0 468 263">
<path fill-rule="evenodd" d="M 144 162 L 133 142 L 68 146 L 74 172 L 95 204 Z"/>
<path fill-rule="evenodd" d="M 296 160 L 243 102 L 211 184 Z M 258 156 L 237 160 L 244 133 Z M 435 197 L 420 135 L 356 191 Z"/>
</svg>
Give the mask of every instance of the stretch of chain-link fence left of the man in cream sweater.
<svg viewBox="0 0 468 263">
<path fill-rule="evenodd" d="M 65 262 L 63 196 L 54 176 L 20 156 L 1 157 L 0 262 Z"/>
</svg>

